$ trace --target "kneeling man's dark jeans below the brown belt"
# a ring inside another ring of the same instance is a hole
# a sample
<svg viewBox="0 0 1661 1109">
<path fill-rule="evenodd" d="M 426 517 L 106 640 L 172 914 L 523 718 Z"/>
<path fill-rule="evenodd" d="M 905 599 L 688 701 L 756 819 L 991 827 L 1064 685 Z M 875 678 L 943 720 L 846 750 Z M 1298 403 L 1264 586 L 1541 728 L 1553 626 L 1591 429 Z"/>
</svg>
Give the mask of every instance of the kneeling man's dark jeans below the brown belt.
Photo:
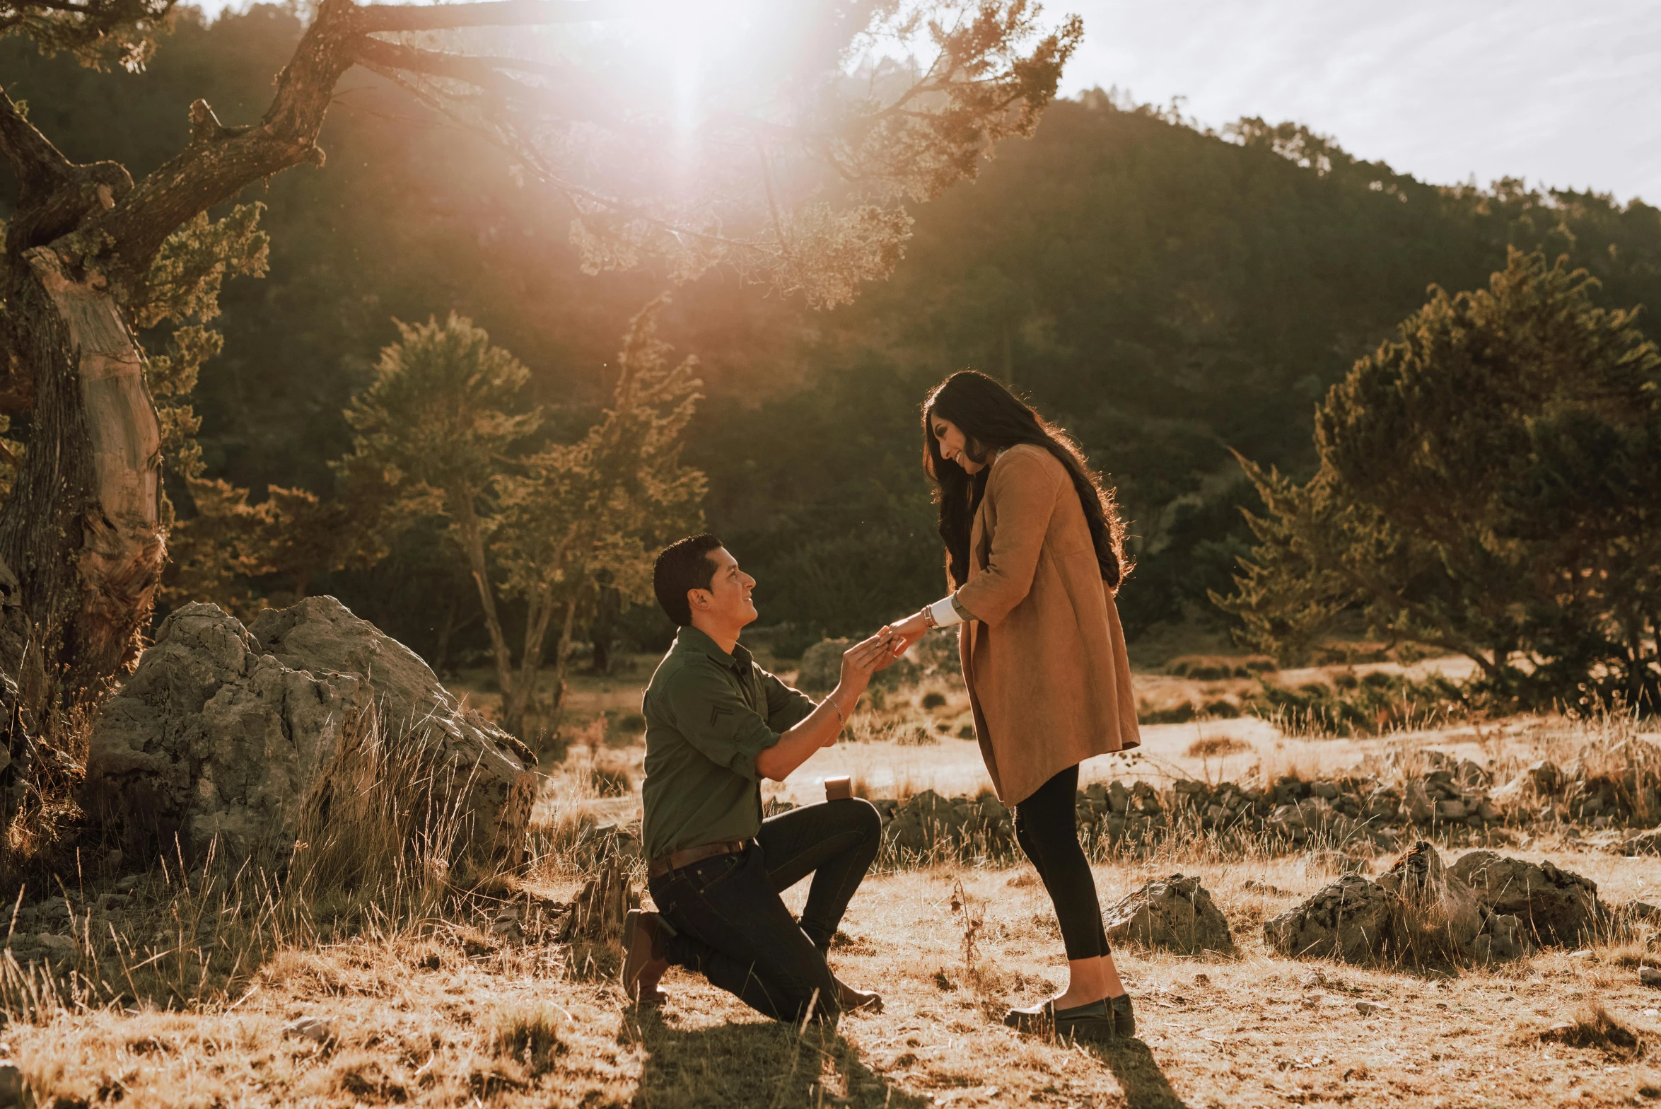
<svg viewBox="0 0 1661 1109">
<path fill-rule="evenodd" d="M 716 855 L 653 878 L 651 900 L 674 928 L 668 956 L 754 1009 L 799 1021 L 834 1019 L 830 936 L 882 845 L 882 817 L 859 799 L 807 805 L 764 820 L 737 855 Z M 782 890 L 807 875 L 801 923 Z M 817 998 L 816 998 L 817 993 Z"/>
</svg>

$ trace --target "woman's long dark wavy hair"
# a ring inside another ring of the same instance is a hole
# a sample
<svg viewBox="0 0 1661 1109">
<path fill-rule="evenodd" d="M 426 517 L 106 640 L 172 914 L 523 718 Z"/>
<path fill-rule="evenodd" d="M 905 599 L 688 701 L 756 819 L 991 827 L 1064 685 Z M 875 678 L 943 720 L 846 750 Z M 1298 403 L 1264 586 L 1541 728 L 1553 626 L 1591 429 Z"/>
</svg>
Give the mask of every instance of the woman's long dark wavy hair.
<svg viewBox="0 0 1661 1109">
<path fill-rule="evenodd" d="M 1096 545 L 1101 579 L 1118 589 L 1131 566 L 1124 561 L 1124 521 L 1120 520 L 1113 490 L 1101 483 L 1085 462 L 1085 452 L 1061 428 L 1048 423 L 1030 405 L 995 379 L 978 370 L 960 370 L 945 379 L 924 400 L 924 473 L 935 483 L 940 505 L 940 538 L 945 540 L 947 574 L 952 588 L 968 581 L 968 533 L 975 510 L 987 491 L 990 467 L 970 475 L 963 467 L 940 455 L 933 435 L 933 417 L 950 420 L 965 437 L 963 450 L 980 462 L 993 450 L 1017 443 L 1043 447 L 1066 467 L 1085 508 L 1090 540 Z"/>
</svg>

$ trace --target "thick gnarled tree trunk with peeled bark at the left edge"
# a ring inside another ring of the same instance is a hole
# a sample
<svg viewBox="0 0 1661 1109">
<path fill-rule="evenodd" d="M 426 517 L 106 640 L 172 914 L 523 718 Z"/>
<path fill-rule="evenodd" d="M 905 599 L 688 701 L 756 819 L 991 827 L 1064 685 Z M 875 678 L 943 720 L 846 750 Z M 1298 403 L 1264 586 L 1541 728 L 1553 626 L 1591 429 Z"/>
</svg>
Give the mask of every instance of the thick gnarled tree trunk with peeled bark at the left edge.
<svg viewBox="0 0 1661 1109">
<path fill-rule="evenodd" d="M 110 291 L 70 277 L 45 247 L 27 266 L 13 271 L 8 314 L 15 354 L 35 369 L 35 412 L 0 508 L 0 558 L 23 586 L 47 672 L 78 699 L 131 664 L 149 619 L 164 554 L 161 428 Z"/>
</svg>

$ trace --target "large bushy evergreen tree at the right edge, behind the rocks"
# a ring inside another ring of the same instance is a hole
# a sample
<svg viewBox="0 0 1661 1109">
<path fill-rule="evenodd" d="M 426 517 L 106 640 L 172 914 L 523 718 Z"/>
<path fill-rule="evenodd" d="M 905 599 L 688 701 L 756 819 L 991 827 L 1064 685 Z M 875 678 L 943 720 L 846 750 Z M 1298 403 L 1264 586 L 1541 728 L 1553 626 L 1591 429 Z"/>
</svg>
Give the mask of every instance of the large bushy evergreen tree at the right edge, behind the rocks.
<svg viewBox="0 0 1661 1109">
<path fill-rule="evenodd" d="M 1528 706 L 1661 706 L 1661 352 L 1595 281 L 1512 251 L 1316 412 L 1317 473 L 1247 463 L 1259 546 L 1218 598 L 1292 656 L 1345 611 Z"/>
</svg>

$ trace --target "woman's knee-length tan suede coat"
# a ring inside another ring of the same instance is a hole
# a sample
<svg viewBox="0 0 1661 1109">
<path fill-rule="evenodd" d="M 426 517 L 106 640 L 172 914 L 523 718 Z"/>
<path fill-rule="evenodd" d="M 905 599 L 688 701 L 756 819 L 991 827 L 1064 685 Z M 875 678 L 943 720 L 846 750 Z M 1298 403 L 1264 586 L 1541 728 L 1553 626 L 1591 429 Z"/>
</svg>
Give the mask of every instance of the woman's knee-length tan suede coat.
<svg viewBox="0 0 1661 1109">
<path fill-rule="evenodd" d="M 958 651 L 998 800 L 1018 804 L 1091 755 L 1141 744 L 1118 608 L 1078 491 L 1041 447 L 992 463 L 957 599 L 973 616 Z"/>
</svg>

